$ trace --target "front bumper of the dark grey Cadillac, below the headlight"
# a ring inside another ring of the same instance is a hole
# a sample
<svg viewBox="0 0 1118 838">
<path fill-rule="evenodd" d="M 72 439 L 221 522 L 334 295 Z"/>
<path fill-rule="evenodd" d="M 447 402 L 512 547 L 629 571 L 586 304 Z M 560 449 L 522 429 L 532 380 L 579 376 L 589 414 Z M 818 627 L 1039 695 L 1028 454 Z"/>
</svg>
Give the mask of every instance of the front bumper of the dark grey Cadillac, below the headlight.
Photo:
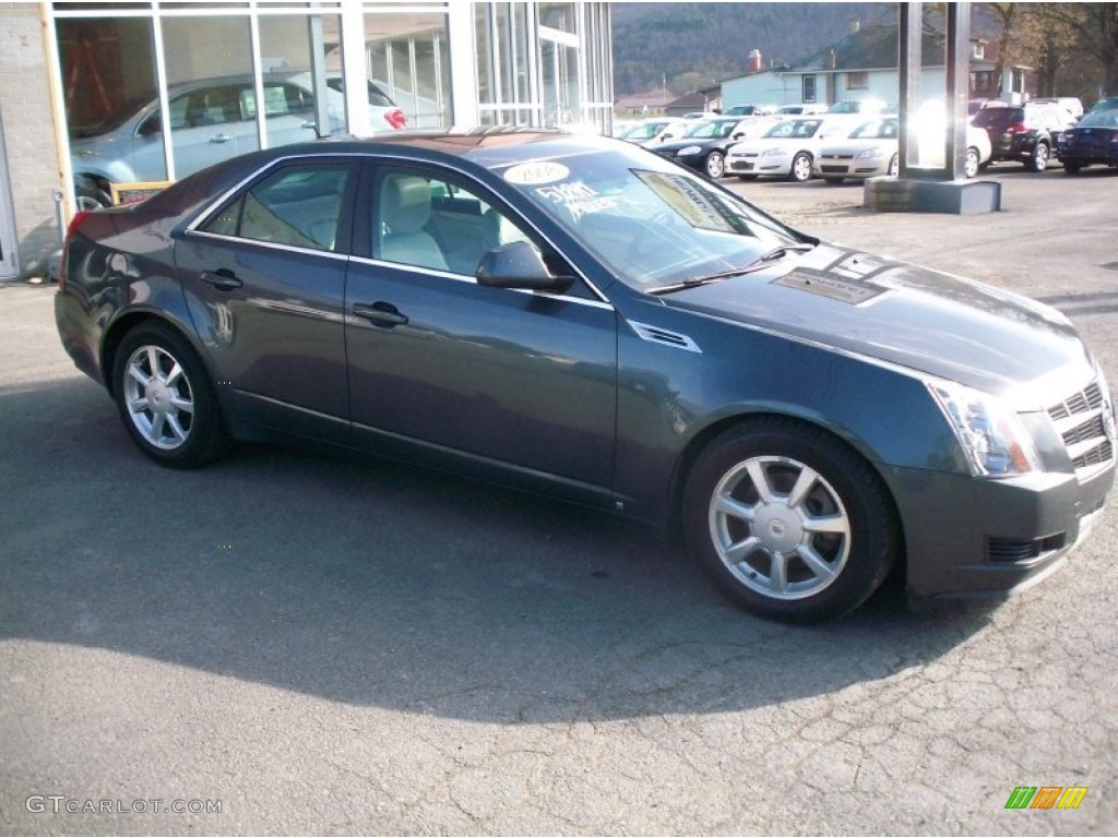
<svg viewBox="0 0 1118 838">
<path fill-rule="evenodd" d="M 908 589 L 916 600 L 1003 599 L 1055 572 L 1083 542 L 1114 485 L 1042 473 L 992 480 L 897 469 Z"/>
</svg>

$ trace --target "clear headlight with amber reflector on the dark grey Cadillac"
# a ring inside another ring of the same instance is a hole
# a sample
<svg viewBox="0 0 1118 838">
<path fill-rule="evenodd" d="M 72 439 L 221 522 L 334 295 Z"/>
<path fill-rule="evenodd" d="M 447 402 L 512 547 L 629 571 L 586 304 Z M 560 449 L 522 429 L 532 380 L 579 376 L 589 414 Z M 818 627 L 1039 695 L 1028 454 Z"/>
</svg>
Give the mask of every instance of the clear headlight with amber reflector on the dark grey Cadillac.
<svg viewBox="0 0 1118 838">
<path fill-rule="evenodd" d="M 929 382 L 975 477 L 1039 472 L 1040 457 L 1021 418 L 995 396 L 947 381 Z"/>
</svg>

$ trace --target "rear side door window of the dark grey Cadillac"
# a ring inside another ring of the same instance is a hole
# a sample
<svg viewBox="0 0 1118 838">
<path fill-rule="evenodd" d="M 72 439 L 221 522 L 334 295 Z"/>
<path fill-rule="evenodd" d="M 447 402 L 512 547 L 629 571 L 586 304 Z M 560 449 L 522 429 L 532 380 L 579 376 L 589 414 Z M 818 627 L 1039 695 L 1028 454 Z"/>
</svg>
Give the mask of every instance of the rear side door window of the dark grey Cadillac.
<svg viewBox="0 0 1118 838">
<path fill-rule="evenodd" d="M 214 213 L 199 229 L 219 236 L 334 250 L 349 165 L 284 166 Z"/>
</svg>

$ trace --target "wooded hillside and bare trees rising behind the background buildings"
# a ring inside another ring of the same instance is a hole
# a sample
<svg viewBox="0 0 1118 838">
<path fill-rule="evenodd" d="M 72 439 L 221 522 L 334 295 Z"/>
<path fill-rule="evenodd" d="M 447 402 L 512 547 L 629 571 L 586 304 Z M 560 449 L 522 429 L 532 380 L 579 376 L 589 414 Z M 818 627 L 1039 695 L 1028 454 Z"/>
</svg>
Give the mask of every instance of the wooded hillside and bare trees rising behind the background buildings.
<svg viewBox="0 0 1118 838">
<path fill-rule="evenodd" d="M 856 23 L 894 26 L 897 4 L 615 3 L 614 93 L 680 96 L 748 70 L 793 63 Z M 925 26 L 941 30 L 942 3 L 925 3 Z M 972 34 L 999 60 L 1033 68 L 1038 95 L 1118 95 L 1118 2 L 994 2 L 972 6 Z"/>
</svg>

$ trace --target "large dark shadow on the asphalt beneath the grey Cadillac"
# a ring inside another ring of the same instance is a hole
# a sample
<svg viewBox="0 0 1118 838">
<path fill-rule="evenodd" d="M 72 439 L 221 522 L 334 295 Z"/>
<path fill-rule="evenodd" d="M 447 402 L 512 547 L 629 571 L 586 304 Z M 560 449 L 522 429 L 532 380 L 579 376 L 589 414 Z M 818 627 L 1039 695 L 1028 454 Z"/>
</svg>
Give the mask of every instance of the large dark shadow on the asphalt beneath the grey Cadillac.
<svg viewBox="0 0 1118 838">
<path fill-rule="evenodd" d="M 0 388 L 0 636 L 356 705 L 514 724 L 781 704 L 918 667 L 987 610 L 891 585 L 797 628 L 727 604 L 643 527 L 364 458 L 144 458 L 72 378 Z"/>
</svg>

